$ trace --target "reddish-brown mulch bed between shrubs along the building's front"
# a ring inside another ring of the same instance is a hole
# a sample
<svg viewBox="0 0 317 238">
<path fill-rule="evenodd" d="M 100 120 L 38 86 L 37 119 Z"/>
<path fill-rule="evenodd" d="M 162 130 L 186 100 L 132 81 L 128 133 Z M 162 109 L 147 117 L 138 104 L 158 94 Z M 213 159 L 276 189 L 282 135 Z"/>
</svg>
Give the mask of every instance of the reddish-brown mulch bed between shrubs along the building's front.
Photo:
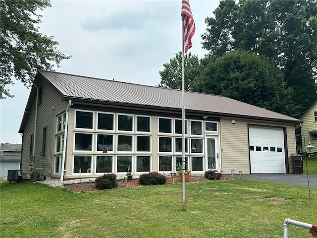
<svg viewBox="0 0 317 238">
<path fill-rule="evenodd" d="M 222 180 L 228 180 L 231 179 L 230 177 L 221 177 Z M 191 176 L 189 179 L 189 182 L 200 182 L 200 181 L 206 181 L 204 176 Z M 117 180 L 118 182 L 118 187 L 117 188 L 125 188 L 127 187 L 127 183 L 125 180 Z M 180 177 L 166 177 L 166 182 L 165 184 L 171 184 L 171 183 L 181 183 L 181 178 Z M 142 184 L 139 183 L 139 179 L 131 179 L 128 180 L 128 186 L 129 187 L 140 187 L 143 186 Z M 76 183 L 76 184 L 67 184 L 64 185 L 65 188 L 75 191 L 75 192 L 81 192 L 81 191 L 99 191 L 95 185 L 94 182 L 86 182 L 86 183 Z"/>
</svg>

